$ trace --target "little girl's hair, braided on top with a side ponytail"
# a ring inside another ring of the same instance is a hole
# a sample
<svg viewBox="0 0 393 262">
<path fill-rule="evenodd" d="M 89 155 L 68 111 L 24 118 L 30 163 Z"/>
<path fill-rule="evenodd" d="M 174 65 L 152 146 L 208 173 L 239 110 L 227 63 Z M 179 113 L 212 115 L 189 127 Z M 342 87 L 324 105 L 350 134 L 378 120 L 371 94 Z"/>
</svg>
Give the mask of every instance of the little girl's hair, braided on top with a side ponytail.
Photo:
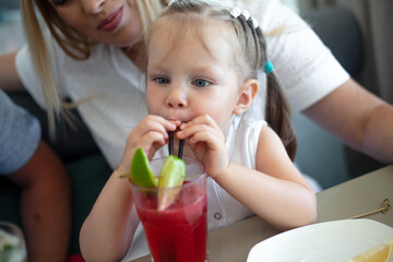
<svg viewBox="0 0 393 262">
<path fill-rule="evenodd" d="M 254 28 L 251 20 L 243 15 L 233 17 L 225 7 L 207 0 L 177 0 L 171 2 L 162 16 L 151 26 L 147 37 L 155 29 L 159 29 L 162 19 L 180 20 L 178 24 L 188 26 L 188 31 L 192 29 L 190 26 L 194 28 L 206 26 L 203 23 L 205 20 L 213 20 L 209 26 L 215 26 L 222 22 L 226 23 L 233 28 L 234 34 L 225 29 L 219 32 L 227 34 L 228 41 L 231 41 L 236 70 L 241 82 L 258 79 L 259 72 L 264 71 L 264 66 L 269 61 L 264 35 L 260 27 Z M 182 31 L 180 29 L 180 32 Z M 266 74 L 266 92 L 265 119 L 281 138 L 288 156 L 294 159 L 296 138 L 290 121 L 289 104 L 274 71 Z"/>
</svg>

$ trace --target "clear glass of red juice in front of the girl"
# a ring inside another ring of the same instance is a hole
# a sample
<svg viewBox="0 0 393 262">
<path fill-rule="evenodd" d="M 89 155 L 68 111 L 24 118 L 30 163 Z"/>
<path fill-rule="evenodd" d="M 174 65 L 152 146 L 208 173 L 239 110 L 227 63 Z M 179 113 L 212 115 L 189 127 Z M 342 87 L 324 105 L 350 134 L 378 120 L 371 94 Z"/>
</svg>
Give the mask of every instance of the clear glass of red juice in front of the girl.
<svg viewBox="0 0 393 262">
<path fill-rule="evenodd" d="M 146 234 L 154 262 L 204 262 L 207 258 L 207 196 L 203 165 L 183 157 L 186 178 L 174 188 L 143 188 L 131 182 L 138 215 Z M 165 158 L 151 162 L 158 177 Z M 165 209 L 158 209 L 158 192 L 177 195 Z"/>
</svg>

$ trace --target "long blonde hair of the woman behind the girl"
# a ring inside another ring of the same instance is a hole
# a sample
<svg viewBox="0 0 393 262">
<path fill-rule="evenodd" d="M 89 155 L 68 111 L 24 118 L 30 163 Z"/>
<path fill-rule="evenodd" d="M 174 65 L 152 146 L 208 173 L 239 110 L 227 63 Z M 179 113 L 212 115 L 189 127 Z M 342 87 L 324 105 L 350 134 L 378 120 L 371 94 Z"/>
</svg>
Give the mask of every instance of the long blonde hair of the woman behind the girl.
<svg viewBox="0 0 393 262">
<path fill-rule="evenodd" d="M 34 3 L 33 3 L 34 2 Z M 143 32 L 146 33 L 150 24 L 159 15 L 167 5 L 166 0 L 135 0 Z M 64 103 L 60 99 L 56 87 L 53 71 L 50 64 L 49 53 L 44 40 L 43 26 L 35 12 L 35 5 L 48 27 L 50 34 L 61 49 L 71 58 L 85 60 L 91 56 L 91 48 L 96 45 L 92 39 L 64 23 L 50 4 L 49 0 L 21 0 L 21 16 L 26 35 L 32 63 L 43 88 L 44 99 L 49 124 L 49 133 L 56 136 L 57 121 L 61 117 L 70 122 L 70 109 L 76 107 L 80 102 Z"/>
</svg>

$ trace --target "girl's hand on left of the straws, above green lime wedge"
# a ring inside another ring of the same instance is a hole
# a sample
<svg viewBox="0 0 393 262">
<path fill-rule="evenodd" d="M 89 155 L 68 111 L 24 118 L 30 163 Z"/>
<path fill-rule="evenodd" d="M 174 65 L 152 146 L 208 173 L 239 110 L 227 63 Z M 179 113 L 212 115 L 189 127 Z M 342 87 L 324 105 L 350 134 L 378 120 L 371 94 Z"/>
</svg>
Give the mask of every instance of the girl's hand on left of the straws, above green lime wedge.
<svg viewBox="0 0 393 262">
<path fill-rule="evenodd" d="M 120 166 L 130 169 L 132 157 L 138 150 L 142 150 L 152 159 L 158 148 L 168 141 L 168 131 L 175 131 L 180 121 L 169 121 L 159 116 L 150 115 L 141 120 L 128 135 L 127 144 Z"/>
</svg>

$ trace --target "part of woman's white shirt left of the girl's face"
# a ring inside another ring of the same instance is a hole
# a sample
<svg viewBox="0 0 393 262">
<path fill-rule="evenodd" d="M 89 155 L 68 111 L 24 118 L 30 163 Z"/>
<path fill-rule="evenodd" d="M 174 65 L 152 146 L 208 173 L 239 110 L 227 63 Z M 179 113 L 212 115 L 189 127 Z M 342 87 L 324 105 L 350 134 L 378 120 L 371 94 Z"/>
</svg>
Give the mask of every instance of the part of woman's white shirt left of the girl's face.
<svg viewBox="0 0 393 262">
<path fill-rule="evenodd" d="M 68 57 L 56 41 L 49 44 L 60 97 L 72 100 L 94 96 L 79 112 L 112 168 L 121 159 L 129 132 L 147 115 L 145 75 L 116 47 L 98 45 L 86 61 Z M 24 86 L 45 108 L 45 100 L 31 66 L 27 47 L 16 57 Z"/>
</svg>

